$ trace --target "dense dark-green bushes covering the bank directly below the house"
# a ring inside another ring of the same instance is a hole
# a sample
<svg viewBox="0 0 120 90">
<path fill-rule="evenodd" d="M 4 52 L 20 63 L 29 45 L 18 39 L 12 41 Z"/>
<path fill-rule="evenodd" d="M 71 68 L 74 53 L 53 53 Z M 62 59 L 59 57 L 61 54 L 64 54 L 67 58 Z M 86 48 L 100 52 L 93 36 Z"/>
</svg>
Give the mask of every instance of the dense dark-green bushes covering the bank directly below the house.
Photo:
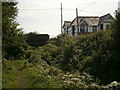
<svg viewBox="0 0 120 90">
<path fill-rule="evenodd" d="M 99 84 L 107 84 L 114 78 L 114 72 L 110 73 L 113 69 L 111 33 L 100 31 L 79 37 L 58 36 L 57 39 L 50 40 L 50 44 L 38 48 L 30 60 L 34 62 L 41 58 L 64 72 L 87 72 L 94 76 L 95 80 L 100 79 Z M 64 45 L 54 45 L 53 42 Z"/>
</svg>

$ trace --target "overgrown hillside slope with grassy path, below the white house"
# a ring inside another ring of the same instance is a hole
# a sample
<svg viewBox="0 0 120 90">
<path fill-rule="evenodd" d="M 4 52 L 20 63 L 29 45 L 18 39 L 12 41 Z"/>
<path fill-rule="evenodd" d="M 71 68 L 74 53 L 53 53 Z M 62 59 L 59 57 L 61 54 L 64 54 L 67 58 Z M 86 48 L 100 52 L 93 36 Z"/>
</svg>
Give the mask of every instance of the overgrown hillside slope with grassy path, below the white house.
<svg viewBox="0 0 120 90">
<path fill-rule="evenodd" d="M 3 88 L 120 87 L 111 35 L 112 31 L 62 34 L 31 50 L 27 60 L 4 60 Z"/>
</svg>

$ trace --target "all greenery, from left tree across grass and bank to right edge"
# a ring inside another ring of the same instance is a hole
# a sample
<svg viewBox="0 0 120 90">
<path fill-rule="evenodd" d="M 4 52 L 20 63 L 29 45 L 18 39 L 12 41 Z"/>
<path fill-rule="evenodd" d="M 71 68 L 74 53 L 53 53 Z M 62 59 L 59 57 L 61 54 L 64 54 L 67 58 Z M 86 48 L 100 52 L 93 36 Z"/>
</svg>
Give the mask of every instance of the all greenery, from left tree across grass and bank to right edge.
<svg viewBox="0 0 120 90">
<path fill-rule="evenodd" d="M 62 34 L 36 48 L 17 29 L 16 5 L 3 3 L 3 88 L 120 88 L 119 13 L 112 30 Z"/>
</svg>

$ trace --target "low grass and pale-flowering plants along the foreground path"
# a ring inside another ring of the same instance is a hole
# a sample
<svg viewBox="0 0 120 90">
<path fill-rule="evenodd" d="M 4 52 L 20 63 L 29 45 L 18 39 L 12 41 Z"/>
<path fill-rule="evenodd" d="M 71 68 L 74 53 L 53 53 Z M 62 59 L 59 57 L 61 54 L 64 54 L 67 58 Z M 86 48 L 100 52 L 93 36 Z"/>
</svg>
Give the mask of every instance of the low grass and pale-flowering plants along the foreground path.
<svg viewBox="0 0 120 90">
<path fill-rule="evenodd" d="M 92 76 L 87 73 L 63 73 L 62 70 L 49 66 L 44 60 L 36 66 L 25 60 L 4 61 L 3 88 L 21 88 L 20 80 L 24 79 L 25 88 L 83 88 L 93 83 Z M 23 78 L 19 75 L 25 75 Z"/>
</svg>

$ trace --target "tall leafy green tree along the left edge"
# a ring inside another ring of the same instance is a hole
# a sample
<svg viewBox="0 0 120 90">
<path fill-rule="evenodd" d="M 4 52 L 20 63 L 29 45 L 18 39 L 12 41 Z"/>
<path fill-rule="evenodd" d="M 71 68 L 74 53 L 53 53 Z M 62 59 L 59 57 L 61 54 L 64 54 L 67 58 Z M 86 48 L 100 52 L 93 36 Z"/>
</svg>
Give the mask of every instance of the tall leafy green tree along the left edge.
<svg viewBox="0 0 120 90">
<path fill-rule="evenodd" d="M 16 22 L 17 2 L 2 3 L 2 51 L 6 59 L 20 59 L 25 55 L 27 43 L 25 36 Z"/>
</svg>

